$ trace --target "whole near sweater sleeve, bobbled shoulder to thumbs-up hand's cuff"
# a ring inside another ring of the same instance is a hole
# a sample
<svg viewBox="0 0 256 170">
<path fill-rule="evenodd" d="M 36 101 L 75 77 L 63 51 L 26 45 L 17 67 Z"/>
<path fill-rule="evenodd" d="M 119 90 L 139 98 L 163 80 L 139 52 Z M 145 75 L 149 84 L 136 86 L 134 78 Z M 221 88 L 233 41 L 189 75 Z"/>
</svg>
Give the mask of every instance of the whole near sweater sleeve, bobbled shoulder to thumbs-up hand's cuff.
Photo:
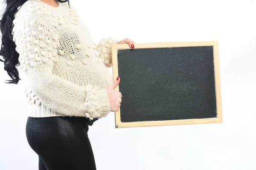
<svg viewBox="0 0 256 170">
<path fill-rule="evenodd" d="M 19 61 L 25 64 L 30 87 L 41 103 L 64 116 L 105 117 L 110 112 L 108 94 L 98 86 L 85 87 L 53 74 L 63 51 L 57 34 L 39 18 L 19 19 L 12 32 Z"/>
</svg>

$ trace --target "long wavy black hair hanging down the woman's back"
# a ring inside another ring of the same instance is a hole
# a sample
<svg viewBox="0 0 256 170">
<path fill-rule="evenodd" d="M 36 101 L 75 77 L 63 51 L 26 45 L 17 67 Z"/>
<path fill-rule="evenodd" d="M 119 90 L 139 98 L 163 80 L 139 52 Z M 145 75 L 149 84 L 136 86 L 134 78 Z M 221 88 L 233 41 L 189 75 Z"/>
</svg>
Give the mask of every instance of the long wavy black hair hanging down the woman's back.
<svg viewBox="0 0 256 170">
<path fill-rule="evenodd" d="M 15 50 L 16 45 L 13 41 L 12 29 L 13 20 L 15 14 L 18 11 L 18 7 L 22 6 L 28 0 L 4 0 L 6 8 L 4 10 L 2 19 L 0 20 L 0 31 L 2 32 L 2 44 L 0 49 L 0 56 L 3 56 L 4 70 L 7 71 L 8 75 L 12 80 L 7 80 L 6 83 L 17 84 L 20 80 L 19 72 L 16 66 L 20 65 L 18 60 L 19 54 Z M 57 1 L 57 0 L 56 0 Z M 60 3 L 68 2 L 69 0 L 58 0 Z"/>
</svg>

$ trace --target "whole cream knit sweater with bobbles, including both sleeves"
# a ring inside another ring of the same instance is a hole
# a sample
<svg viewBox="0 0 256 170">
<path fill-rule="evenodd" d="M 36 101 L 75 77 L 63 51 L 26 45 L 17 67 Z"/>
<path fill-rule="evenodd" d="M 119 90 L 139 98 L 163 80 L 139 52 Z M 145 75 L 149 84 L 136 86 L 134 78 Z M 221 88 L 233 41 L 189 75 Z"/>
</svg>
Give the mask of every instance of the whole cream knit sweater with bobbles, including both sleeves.
<svg viewBox="0 0 256 170">
<path fill-rule="evenodd" d="M 71 8 L 70 8 L 71 7 Z M 72 4 L 53 7 L 28 0 L 15 15 L 13 40 L 20 68 L 29 80 L 30 117 L 83 116 L 91 120 L 110 113 L 105 88 L 113 83 L 111 45 L 96 45 Z"/>
</svg>

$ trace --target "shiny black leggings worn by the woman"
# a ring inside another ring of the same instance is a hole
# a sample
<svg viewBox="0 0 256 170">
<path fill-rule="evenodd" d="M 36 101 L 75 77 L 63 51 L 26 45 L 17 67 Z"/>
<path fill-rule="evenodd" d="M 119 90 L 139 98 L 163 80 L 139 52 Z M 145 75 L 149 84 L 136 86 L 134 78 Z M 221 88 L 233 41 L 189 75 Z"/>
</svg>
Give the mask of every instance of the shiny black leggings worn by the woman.
<svg viewBox="0 0 256 170">
<path fill-rule="evenodd" d="M 96 170 L 87 136 L 92 124 L 84 117 L 28 117 L 26 137 L 39 156 L 39 170 Z"/>
</svg>

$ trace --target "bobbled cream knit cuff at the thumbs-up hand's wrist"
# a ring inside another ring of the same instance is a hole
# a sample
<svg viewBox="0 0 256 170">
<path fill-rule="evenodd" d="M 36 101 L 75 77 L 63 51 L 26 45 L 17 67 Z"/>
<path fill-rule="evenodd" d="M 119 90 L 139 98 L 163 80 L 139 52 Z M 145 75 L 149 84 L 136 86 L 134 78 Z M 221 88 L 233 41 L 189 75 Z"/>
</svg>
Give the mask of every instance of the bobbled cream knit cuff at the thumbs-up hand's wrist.
<svg viewBox="0 0 256 170">
<path fill-rule="evenodd" d="M 93 85 L 87 85 L 85 90 L 85 116 L 91 120 L 96 117 L 106 117 L 110 113 L 110 102 L 107 91 Z"/>
</svg>

